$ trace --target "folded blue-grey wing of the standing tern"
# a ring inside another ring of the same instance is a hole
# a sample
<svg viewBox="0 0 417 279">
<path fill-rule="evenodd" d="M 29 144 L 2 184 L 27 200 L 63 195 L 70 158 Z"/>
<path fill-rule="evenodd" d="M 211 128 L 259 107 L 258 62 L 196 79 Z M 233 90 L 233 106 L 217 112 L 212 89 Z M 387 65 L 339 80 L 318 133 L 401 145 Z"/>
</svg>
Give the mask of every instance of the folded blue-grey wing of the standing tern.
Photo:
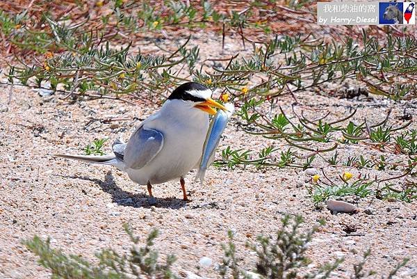
<svg viewBox="0 0 417 279">
<path fill-rule="evenodd" d="M 139 169 L 148 164 L 163 147 L 163 134 L 154 129 L 140 127 L 129 139 L 123 151 L 127 168 Z"/>
</svg>

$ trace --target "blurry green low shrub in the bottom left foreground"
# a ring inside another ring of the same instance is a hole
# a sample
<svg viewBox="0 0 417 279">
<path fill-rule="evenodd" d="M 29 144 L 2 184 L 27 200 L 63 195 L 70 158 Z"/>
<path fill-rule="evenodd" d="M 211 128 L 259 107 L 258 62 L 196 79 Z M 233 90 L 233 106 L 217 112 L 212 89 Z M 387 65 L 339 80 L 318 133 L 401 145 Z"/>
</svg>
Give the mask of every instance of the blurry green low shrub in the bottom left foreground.
<svg viewBox="0 0 417 279">
<path fill-rule="evenodd" d="M 51 248 L 50 241 L 33 237 L 25 241 L 26 247 L 40 257 L 39 263 L 51 271 L 51 278 L 177 278 L 171 270 L 176 258 L 167 255 L 165 263 L 158 262 L 158 251 L 154 250 L 154 240 L 158 232 L 149 233 L 145 246 L 137 247 L 138 237 L 133 236 L 128 225 L 124 229 L 133 246 L 129 254 L 120 255 L 113 249 L 104 249 L 96 253 L 98 264 L 92 264 L 79 255 L 65 255 L 60 250 Z"/>
</svg>

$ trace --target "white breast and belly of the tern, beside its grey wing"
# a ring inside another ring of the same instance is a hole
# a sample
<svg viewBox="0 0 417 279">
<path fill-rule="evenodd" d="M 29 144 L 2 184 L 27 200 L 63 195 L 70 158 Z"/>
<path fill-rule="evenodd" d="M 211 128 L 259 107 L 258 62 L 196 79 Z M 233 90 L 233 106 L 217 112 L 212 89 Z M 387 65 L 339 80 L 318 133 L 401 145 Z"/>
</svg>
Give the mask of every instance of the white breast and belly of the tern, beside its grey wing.
<svg viewBox="0 0 417 279">
<path fill-rule="evenodd" d="M 159 184 L 186 175 L 202 156 L 208 124 L 208 114 L 198 109 L 164 105 L 143 123 L 144 128 L 161 131 L 163 148 L 143 168 L 127 169 L 130 179 L 138 184 Z"/>
</svg>

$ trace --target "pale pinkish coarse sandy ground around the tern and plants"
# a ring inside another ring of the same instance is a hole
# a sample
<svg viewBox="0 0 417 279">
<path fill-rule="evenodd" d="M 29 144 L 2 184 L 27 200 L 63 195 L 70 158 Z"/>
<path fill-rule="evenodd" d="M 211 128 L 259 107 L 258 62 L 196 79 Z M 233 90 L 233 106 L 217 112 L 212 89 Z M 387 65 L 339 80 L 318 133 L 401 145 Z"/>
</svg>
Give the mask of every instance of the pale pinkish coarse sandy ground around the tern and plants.
<svg viewBox="0 0 417 279">
<path fill-rule="evenodd" d="M 281 227 L 279 220 L 284 214 L 302 215 L 306 219 L 302 230 L 325 218 L 327 224 L 316 234 L 309 256 L 313 260 L 311 267 L 345 257 L 333 278 L 350 278 L 352 263 L 358 262 L 368 248 L 372 254 L 366 267 L 377 272 L 375 278 L 387 274 L 404 257 L 411 260 L 398 278 L 417 276 L 415 203 L 365 198 L 358 201 L 358 206 L 372 209 L 373 214 L 362 211 L 332 215 L 327 209 L 313 207 L 304 187 L 311 179 L 302 170 L 212 167 L 204 186 L 192 182 L 195 173 L 187 175 L 192 202 L 181 200 L 179 182 L 168 182 L 154 186 L 157 203 L 151 207 L 146 187 L 131 182 L 119 170 L 56 159 L 49 154 L 81 153 L 94 138 L 108 137 L 113 141 L 122 134 L 127 139 L 156 107 L 105 99 L 68 104 L 60 96 L 40 97 L 31 89 L 15 88 L 6 109 L 8 88 L 1 87 L 0 92 L 0 278 L 49 277 L 21 244 L 34 234 L 51 237 L 55 248 L 89 259 L 101 248 L 126 252 L 130 247 L 122 228 L 126 222 L 144 240 L 152 228 L 158 228 L 161 234 L 156 248 L 162 255 L 178 256 L 176 271 L 215 278 L 215 266 L 222 259 L 220 244 L 227 241 L 228 230 L 236 232 L 238 257 L 251 264 L 254 254 L 244 248 L 245 242 L 253 241 L 257 234 L 273 234 Z M 405 107 L 372 98 L 352 102 L 311 95 L 297 95 L 301 103 L 297 109 L 311 114 L 327 109 L 332 117 L 340 117 L 354 106 L 359 109 L 357 119 L 366 115 L 377 122 L 390 108 L 395 117 L 402 115 Z M 279 100 L 286 111 L 291 111 L 292 102 L 289 97 Z M 416 115 L 416 104 L 408 110 Z M 127 120 L 104 122 L 108 118 Z M 224 135 L 220 149 L 231 145 L 259 150 L 271 143 L 245 134 L 237 118 L 231 120 Z M 107 152 L 111 141 L 105 145 Z M 275 145 L 284 147 L 281 142 Z M 364 151 L 340 148 L 339 152 L 347 157 Z M 336 177 L 343 169 L 326 167 L 326 171 Z M 380 177 L 398 174 L 350 171 Z M 347 227 L 355 228 L 357 235 L 347 236 Z M 199 266 L 204 256 L 213 260 L 211 266 Z"/>
</svg>

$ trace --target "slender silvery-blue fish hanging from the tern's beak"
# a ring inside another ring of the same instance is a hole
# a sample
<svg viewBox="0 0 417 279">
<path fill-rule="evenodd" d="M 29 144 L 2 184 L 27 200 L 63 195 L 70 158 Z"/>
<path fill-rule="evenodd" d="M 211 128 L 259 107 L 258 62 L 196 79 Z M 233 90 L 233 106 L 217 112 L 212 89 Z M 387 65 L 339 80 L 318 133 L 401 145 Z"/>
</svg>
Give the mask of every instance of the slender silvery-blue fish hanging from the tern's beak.
<svg viewBox="0 0 417 279">
<path fill-rule="evenodd" d="M 234 113 L 234 106 L 231 103 L 224 104 L 227 111 L 218 110 L 211 120 L 210 127 L 208 127 L 206 141 L 204 142 L 202 159 L 199 164 L 199 169 L 195 175 L 195 181 L 199 180 L 200 184 L 204 183 L 204 176 L 206 169 L 214 161 L 215 150 L 220 143 L 222 133 L 227 126 L 227 122 Z"/>
</svg>

